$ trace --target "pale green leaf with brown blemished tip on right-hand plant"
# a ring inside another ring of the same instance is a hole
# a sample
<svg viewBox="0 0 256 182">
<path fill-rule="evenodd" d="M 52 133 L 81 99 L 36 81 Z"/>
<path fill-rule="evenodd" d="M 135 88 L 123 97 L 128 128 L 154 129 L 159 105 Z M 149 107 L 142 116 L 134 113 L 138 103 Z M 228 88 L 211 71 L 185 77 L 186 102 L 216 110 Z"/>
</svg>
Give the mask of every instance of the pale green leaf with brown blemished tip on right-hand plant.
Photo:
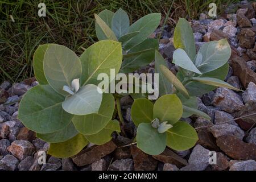
<svg viewBox="0 0 256 182">
<path fill-rule="evenodd" d="M 228 40 L 205 43 L 196 55 L 197 68 L 201 73 L 207 73 L 222 67 L 231 56 Z"/>
</svg>

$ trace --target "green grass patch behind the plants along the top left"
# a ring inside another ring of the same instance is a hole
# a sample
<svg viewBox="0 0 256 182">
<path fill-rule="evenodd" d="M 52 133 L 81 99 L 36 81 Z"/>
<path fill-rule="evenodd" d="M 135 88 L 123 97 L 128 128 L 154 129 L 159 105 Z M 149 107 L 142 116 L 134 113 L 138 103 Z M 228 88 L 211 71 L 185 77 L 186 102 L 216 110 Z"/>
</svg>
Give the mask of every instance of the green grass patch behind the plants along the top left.
<svg viewBox="0 0 256 182">
<path fill-rule="evenodd" d="M 47 16 L 43 18 L 38 16 L 40 2 L 46 3 L 47 8 Z M 116 11 L 122 7 L 133 22 L 149 13 L 162 13 L 163 18 L 168 14 L 162 24 L 174 26 L 178 17 L 196 18 L 208 10 L 209 2 L 213 1 L 175 0 L 172 5 L 172 0 L 0 0 L 0 83 L 32 77 L 32 56 L 40 44 L 62 44 L 80 55 L 84 48 L 97 41 L 93 14 L 104 9 Z M 215 2 L 221 7 L 223 2 L 233 1 Z"/>
</svg>

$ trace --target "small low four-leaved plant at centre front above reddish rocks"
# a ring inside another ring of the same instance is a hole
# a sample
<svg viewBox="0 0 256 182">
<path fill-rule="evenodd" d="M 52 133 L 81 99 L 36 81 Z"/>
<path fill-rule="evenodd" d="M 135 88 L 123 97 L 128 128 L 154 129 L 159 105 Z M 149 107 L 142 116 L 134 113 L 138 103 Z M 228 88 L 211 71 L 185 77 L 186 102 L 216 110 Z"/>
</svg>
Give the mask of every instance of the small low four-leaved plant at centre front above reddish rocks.
<svg viewBox="0 0 256 182">
<path fill-rule="evenodd" d="M 198 140 L 195 129 L 179 121 L 183 106 L 175 94 L 166 94 L 155 104 L 138 98 L 131 107 L 131 118 L 137 128 L 137 147 L 150 155 L 158 155 L 166 146 L 183 151 Z"/>
</svg>

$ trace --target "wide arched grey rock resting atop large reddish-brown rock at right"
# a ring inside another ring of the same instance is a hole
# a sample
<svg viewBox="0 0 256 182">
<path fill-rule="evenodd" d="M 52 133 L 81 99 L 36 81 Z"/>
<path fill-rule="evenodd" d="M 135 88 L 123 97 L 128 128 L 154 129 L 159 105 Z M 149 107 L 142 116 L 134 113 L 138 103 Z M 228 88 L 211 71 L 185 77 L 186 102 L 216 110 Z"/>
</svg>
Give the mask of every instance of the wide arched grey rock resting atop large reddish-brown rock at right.
<svg viewBox="0 0 256 182">
<path fill-rule="evenodd" d="M 240 127 L 231 125 L 229 123 L 214 125 L 210 127 L 210 131 L 215 138 L 221 137 L 223 135 L 233 135 L 242 140 L 245 136 L 245 133 L 240 129 Z"/>
</svg>

